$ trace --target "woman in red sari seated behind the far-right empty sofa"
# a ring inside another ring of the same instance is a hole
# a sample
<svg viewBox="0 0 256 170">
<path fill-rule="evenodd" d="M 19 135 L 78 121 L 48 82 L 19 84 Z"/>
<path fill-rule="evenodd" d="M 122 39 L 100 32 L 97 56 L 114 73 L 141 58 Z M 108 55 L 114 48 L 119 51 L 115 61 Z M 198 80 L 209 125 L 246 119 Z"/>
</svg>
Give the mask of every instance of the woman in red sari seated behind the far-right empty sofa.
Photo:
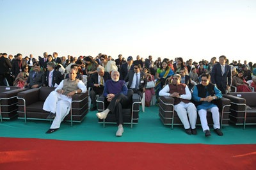
<svg viewBox="0 0 256 170">
<path fill-rule="evenodd" d="M 252 92 L 243 76 L 243 71 L 238 72 L 232 79 L 232 86 L 236 87 L 237 92 Z"/>
</svg>

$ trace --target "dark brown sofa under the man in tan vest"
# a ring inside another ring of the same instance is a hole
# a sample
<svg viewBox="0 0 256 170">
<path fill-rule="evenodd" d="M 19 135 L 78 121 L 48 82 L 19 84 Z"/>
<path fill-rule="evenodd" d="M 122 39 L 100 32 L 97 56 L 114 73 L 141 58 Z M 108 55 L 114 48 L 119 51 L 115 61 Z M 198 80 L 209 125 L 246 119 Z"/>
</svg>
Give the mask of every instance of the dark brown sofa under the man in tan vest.
<svg viewBox="0 0 256 170">
<path fill-rule="evenodd" d="M 47 120 L 49 112 L 44 111 L 45 99 L 55 88 L 42 87 L 22 91 L 18 94 L 19 119 L 26 120 Z M 70 113 L 65 120 L 81 123 L 84 116 L 88 113 L 88 92 L 76 94 L 72 97 Z M 49 120 L 47 120 L 49 121 Z M 52 121 L 52 120 L 50 120 Z"/>
</svg>

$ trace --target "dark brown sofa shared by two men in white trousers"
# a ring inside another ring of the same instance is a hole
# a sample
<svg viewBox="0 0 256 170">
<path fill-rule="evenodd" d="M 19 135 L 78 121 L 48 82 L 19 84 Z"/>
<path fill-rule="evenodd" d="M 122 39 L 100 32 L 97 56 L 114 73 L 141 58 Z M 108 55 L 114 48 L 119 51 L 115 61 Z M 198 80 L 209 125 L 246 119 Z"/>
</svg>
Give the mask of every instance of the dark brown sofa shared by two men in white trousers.
<svg viewBox="0 0 256 170">
<path fill-rule="evenodd" d="M 164 125 L 182 125 L 179 116 L 174 111 L 174 98 L 173 97 L 159 97 L 159 117 Z M 216 100 L 216 105 L 220 111 L 220 126 L 228 125 L 228 114 L 230 107 L 230 100 L 227 98 L 220 98 Z M 174 112 L 174 114 L 173 114 Z M 211 112 L 207 112 L 207 122 L 209 125 L 213 125 Z M 200 118 L 197 115 L 196 125 L 200 125 Z"/>
</svg>

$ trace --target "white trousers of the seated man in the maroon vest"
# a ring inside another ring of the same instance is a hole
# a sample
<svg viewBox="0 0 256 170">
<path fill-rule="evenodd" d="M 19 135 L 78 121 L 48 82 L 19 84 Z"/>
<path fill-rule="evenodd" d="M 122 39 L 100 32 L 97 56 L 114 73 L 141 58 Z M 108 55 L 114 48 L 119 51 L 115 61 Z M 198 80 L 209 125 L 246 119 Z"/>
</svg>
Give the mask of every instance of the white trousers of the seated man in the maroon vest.
<svg viewBox="0 0 256 170">
<path fill-rule="evenodd" d="M 174 105 L 174 110 L 177 112 L 180 121 L 184 125 L 184 128 L 196 128 L 196 107 L 193 103 L 185 104 L 184 102 L 180 102 L 177 105 Z M 187 116 L 188 112 L 188 116 Z M 189 121 L 188 121 L 189 117 Z M 190 125 L 189 125 L 190 122 Z"/>
</svg>

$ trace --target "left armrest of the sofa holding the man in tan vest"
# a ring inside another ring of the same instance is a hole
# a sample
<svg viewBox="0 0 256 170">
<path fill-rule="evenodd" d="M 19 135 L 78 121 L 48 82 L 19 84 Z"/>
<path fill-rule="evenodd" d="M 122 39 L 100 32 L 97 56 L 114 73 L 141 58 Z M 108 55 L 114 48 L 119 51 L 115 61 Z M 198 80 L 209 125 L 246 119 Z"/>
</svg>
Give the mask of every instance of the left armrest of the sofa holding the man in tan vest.
<svg viewBox="0 0 256 170">
<path fill-rule="evenodd" d="M 24 98 L 25 101 L 26 101 L 26 105 L 29 105 L 29 104 L 33 104 L 35 102 L 38 102 L 39 92 L 40 92 L 39 88 L 29 89 L 29 90 L 22 91 L 22 92 L 18 93 L 18 97 L 19 98 Z M 19 102 L 19 105 L 24 105 L 23 100 L 19 99 L 18 102 Z"/>
</svg>

